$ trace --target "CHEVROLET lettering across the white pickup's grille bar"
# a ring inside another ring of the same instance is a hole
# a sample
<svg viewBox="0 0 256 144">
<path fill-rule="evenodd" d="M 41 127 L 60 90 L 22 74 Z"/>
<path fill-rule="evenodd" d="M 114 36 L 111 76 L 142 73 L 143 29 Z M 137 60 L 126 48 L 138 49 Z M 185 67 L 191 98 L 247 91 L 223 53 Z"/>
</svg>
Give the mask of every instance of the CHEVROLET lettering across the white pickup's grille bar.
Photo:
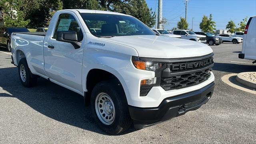
<svg viewBox="0 0 256 144">
<path fill-rule="evenodd" d="M 184 64 L 173 64 L 172 70 L 187 70 L 187 69 L 195 69 L 200 68 L 202 66 L 206 66 L 213 63 L 213 58 L 209 58 L 207 60 L 202 60 L 199 62 L 191 62 L 191 63 L 184 63 Z"/>
</svg>

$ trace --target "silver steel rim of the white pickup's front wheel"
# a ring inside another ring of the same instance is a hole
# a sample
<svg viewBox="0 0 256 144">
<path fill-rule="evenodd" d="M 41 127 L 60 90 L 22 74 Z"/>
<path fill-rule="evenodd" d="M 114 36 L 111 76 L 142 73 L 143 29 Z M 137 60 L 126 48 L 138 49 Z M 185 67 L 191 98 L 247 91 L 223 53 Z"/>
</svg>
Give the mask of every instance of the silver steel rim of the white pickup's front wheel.
<svg viewBox="0 0 256 144">
<path fill-rule="evenodd" d="M 101 92 L 96 96 L 95 110 L 103 124 L 110 125 L 114 122 L 115 106 L 108 94 Z"/>
</svg>

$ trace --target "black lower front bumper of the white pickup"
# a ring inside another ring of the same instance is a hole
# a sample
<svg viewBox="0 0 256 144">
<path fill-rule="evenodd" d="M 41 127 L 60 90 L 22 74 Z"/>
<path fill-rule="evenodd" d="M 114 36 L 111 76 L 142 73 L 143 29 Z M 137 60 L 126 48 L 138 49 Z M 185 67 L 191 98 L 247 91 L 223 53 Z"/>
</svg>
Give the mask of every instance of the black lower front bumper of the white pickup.
<svg viewBox="0 0 256 144">
<path fill-rule="evenodd" d="M 129 106 L 134 128 L 144 128 L 200 108 L 211 98 L 214 86 L 212 82 L 199 90 L 166 98 L 155 108 Z"/>
</svg>

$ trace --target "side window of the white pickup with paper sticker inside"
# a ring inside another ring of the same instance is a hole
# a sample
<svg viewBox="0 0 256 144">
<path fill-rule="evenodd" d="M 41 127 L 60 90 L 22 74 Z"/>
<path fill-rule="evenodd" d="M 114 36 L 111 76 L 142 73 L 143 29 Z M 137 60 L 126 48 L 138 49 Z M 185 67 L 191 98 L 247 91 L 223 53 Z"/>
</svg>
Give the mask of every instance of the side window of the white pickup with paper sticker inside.
<svg viewBox="0 0 256 144">
<path fill-rule="evenodd" d="M 78 42 L 83 40 L 83 33 L 76 19 L 71 14 L 60 14 L 55 27 L 53 38 L 56 38 L 58 31 L 75 31 Z"/>
</svg>

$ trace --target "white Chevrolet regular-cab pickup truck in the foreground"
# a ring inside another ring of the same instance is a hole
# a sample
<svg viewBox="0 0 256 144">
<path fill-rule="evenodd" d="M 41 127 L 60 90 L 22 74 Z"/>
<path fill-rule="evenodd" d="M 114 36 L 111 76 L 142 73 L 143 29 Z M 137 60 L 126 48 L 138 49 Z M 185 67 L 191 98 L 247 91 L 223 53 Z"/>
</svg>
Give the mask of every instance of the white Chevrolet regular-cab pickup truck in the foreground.
<svg viewBox="0 0 256 144">
<path fill-rule="evenodd" d="M 158 36 L 125 14 L 60 10 L 46 33 L 12 33 L 11 46 L 22 85 L 40 76 L 77 92 L 110 134 L 196 110 L 214 90 L 209 46 Z"/>
</svg>

